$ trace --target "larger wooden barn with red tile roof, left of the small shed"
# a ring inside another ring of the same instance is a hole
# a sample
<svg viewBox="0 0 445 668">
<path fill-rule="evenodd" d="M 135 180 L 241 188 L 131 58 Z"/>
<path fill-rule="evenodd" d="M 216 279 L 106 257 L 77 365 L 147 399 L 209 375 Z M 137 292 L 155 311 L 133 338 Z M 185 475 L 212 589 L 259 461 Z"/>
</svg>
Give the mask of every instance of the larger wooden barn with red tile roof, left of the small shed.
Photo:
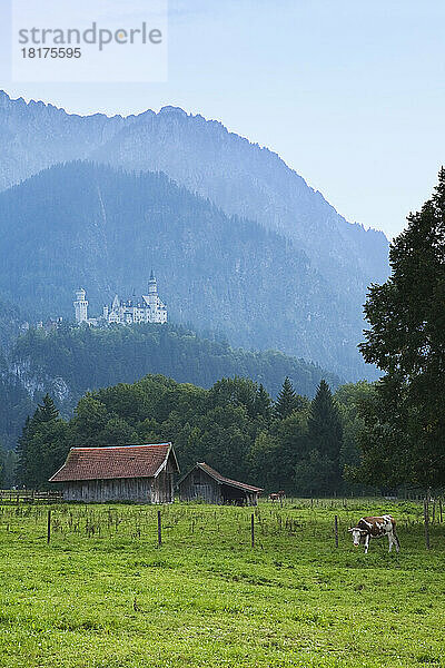
<svg viewBox="0 0 445 668">
<path fill-rule="evenodd" d="M 63 499 L 83 503 L 170 503 L 179 466 L 171 443 L 71 448 L 50 478 Z"/>
</svg>

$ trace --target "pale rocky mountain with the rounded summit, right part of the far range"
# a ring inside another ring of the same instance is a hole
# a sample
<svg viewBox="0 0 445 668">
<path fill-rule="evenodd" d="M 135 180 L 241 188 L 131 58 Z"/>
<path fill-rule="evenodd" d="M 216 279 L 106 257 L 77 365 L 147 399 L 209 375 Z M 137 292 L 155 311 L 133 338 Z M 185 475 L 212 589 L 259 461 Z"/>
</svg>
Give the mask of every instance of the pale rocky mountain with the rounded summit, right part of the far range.
<svg viewBox="0 0 445 668">
<path fill-rule="evenodd" d="M 347 223 L 279 156 L 220 122 L 165 107 L 125 125 L 92 155 L 128 169 L 160 169 L 226 213 L 284 233 L 324 275 L 348 289 L 386 277 L 383 233 Z"/>
</svg>

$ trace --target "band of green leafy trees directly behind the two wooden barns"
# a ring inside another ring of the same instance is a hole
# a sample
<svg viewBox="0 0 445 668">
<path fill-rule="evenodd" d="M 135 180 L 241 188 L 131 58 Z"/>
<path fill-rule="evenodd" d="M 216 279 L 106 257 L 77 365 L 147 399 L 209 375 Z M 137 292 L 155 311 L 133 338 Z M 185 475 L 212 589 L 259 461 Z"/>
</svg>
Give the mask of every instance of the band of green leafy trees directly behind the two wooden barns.
<svg viewBox="0 0 445 668">
<path fill-rule="evenodd" d="M 330 396 L 328 386 L 323 387 Z M 332 470 L 326 470 L 323 480 L 313 470 L 313 480 L 305 487 L 296 475 L 297 465 L 310 460 L 308 419 L 317 411 L 306 397 L 295 395 L 295 410 L 278 419 L 277 406 L 263 385 L 249 379 L 221 379 L 204 390 L 148 375 L 131 385 L 120 383 L 87 393 L 66 422 L 46 396 L 20 439 L 19 481 L 48 487 L 71 446 L 172 441 L 182 471 L 207 461 L 230 478 L 269 491 L 340 491 L 344 482 L 333 473 L 339 471 L 339 448 L 330 448 Z M 327 420 L 332 424 L 330 413 Z M 310 443 L 325 453 L 323 439 L 314 435 Z"/>
</svg>

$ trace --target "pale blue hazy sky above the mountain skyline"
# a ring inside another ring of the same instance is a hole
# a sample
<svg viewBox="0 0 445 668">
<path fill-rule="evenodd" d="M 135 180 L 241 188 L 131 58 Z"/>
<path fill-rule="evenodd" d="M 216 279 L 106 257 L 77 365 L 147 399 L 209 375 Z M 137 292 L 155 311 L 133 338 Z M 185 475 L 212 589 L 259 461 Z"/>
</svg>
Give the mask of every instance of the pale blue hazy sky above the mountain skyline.
<svg viewBox="0 0 445 668">
<path fill-rule="evenodd" d="M 444 0 L 170 0 L 167 82 L 3 87 L 71 112 L 221 120 L 392 236 L 445 163 L 444 45 Z"/>
</svg>

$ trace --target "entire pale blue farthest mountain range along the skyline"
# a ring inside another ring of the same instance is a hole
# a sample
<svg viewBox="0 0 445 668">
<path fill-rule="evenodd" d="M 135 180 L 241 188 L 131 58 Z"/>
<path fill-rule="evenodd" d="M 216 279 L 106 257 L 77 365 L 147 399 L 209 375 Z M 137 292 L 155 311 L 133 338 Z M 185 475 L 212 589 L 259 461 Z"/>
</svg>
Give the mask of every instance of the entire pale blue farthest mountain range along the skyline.
<svg viewBox="0 0 445 668">
<path fill-rule="evenodd" d="M 384 279 L 388 271 L 383 233 L 347 223 L 267 148 L 178 108 L 128 118 L 80 117 L 0 92 L 0 188 L 75 158 L 161 170 L 226 213 L 296 239 L 315 266 L 346 292 L 362 296 L 364 285 Z"/>
</svg>

